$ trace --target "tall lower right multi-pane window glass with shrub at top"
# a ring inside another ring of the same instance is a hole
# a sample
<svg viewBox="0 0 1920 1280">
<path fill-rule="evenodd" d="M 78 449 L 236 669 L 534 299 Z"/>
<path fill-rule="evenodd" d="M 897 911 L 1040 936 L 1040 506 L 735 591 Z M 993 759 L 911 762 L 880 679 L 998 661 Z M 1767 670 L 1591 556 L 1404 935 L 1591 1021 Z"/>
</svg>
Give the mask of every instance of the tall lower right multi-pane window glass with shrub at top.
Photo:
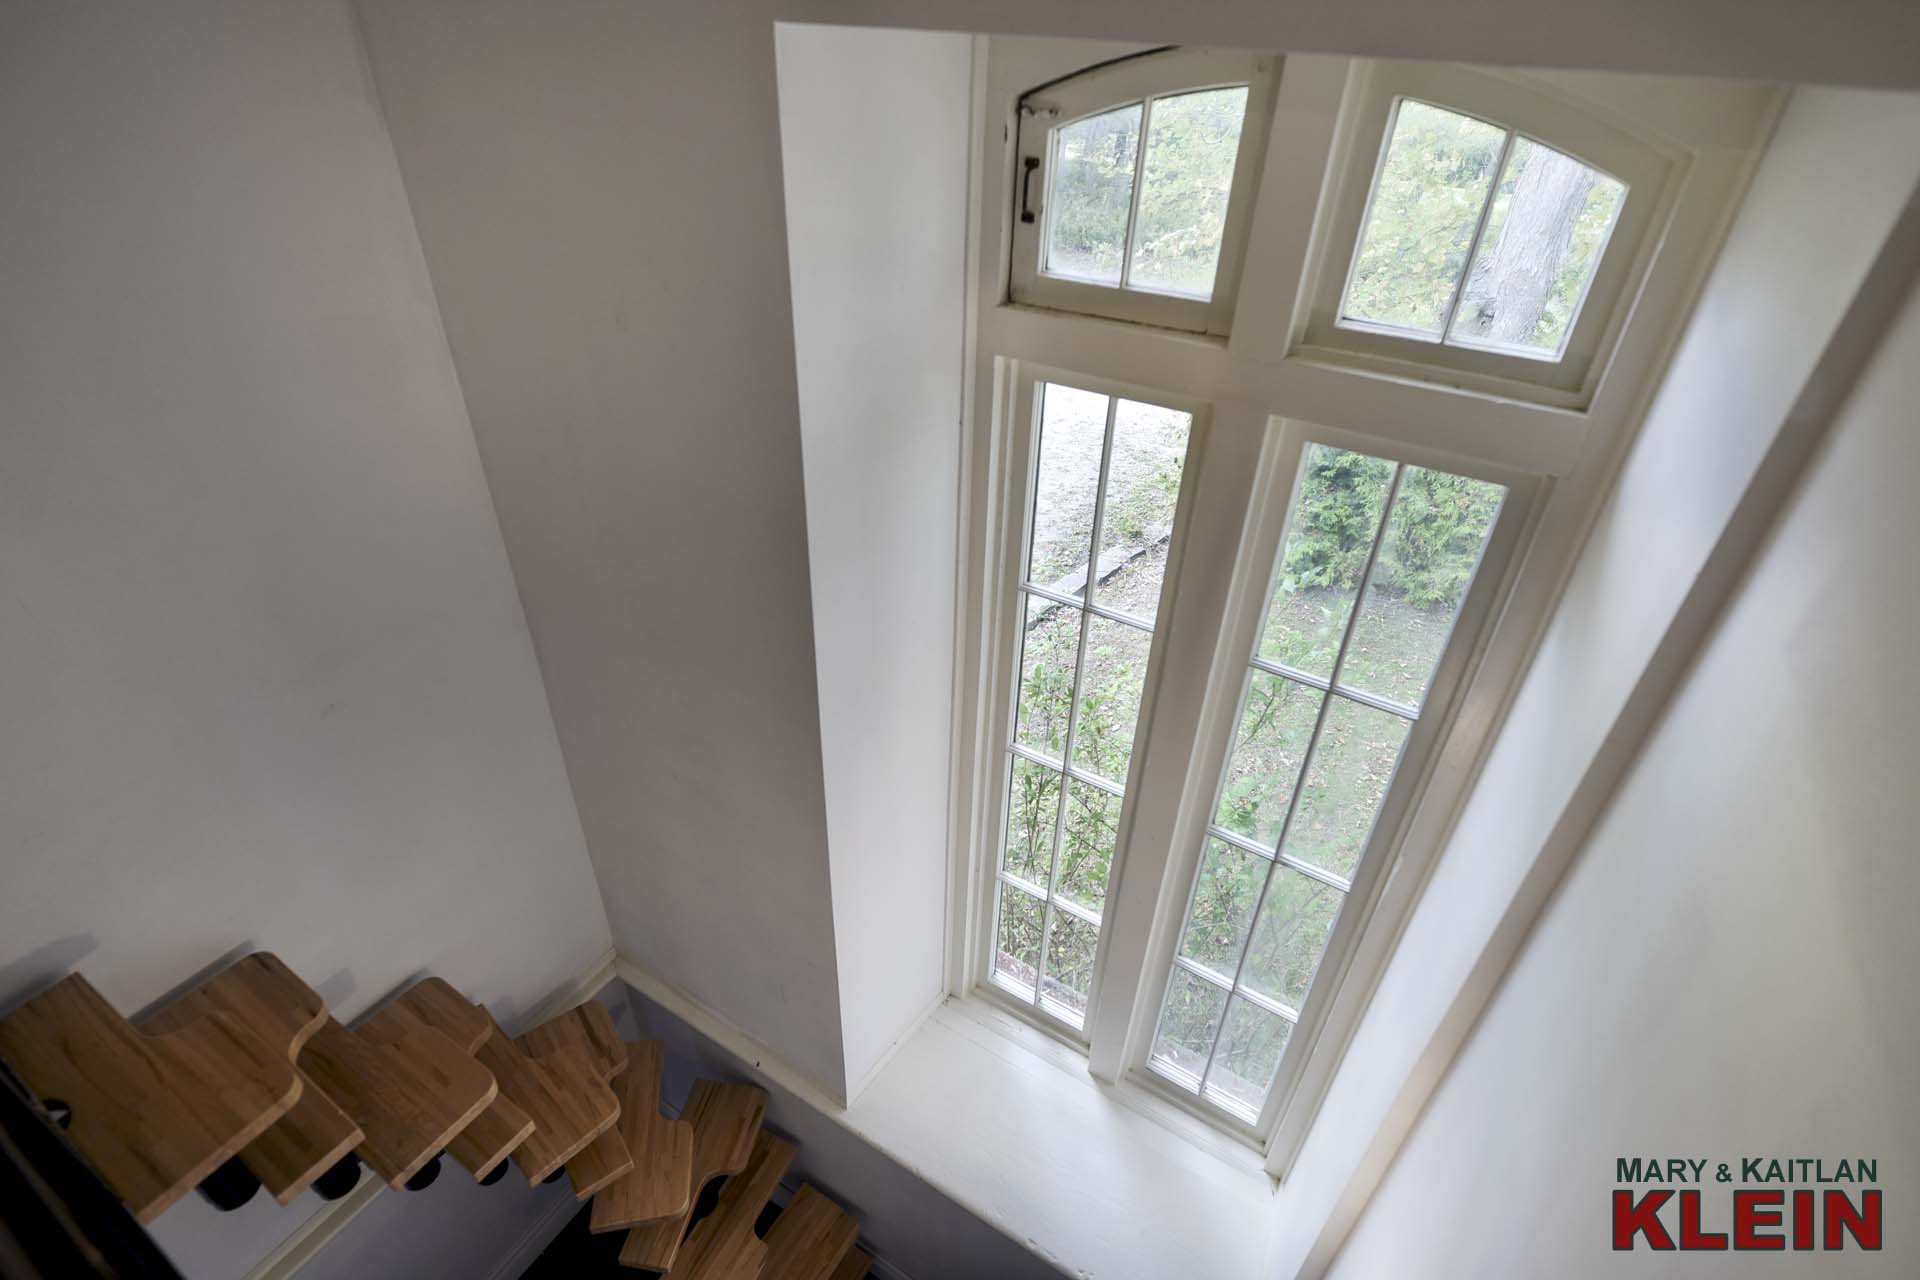
<svg viewBox="0 0 1920 1280">
<path fill-rule="evenodd" d="M 1252 1125 L 1505 489 L 1308 445 L 1148 1067 Z"/>
</svg>

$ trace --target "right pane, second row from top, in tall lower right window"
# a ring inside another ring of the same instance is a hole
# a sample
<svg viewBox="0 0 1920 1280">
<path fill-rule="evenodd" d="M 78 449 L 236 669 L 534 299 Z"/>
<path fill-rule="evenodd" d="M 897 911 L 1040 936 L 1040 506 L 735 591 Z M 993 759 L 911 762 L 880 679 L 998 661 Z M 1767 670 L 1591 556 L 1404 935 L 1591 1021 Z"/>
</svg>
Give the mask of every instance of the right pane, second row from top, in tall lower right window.
<svg viewBox="0 0 1920 1280">
<path fill-rule="evenodd" d="M 1392 712 L 1332 700 L 1286 829 L 1288 856 L 1354 879 L 1411 727 Z"/>
</svg>

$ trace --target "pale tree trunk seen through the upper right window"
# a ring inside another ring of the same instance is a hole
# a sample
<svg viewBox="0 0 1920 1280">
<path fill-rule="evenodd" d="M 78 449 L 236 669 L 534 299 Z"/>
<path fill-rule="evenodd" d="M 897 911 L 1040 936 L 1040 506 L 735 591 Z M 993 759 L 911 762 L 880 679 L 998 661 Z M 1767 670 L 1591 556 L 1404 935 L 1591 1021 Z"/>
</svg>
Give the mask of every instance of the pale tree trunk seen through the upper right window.
<svg viewBox="0 0 1920 1280">
<path fill-rule="evenodd" d="M 1455 330 L 1461 338 L 1500 345 L 1534 345 L 1548 311 L 1574 223 L 1594 190 L 1594 171 L 1544 146 L 1534 146 L 1513 184 L 1507 219 L 1467 276 Z"/>
</svg>

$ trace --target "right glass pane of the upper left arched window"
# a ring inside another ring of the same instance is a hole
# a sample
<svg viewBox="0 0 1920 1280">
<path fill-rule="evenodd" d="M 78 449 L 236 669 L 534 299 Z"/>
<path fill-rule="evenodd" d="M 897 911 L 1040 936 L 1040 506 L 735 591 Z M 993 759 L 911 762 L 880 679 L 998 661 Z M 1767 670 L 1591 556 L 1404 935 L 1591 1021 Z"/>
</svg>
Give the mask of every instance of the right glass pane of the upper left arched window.
<svg viewBox="0 0 1920 1280">
<path fill-rule="evenodd" d="M 1244 84 L 1154 100 L 1129 286 L 1213 296 L 1244 117 Z"/>
</svg>

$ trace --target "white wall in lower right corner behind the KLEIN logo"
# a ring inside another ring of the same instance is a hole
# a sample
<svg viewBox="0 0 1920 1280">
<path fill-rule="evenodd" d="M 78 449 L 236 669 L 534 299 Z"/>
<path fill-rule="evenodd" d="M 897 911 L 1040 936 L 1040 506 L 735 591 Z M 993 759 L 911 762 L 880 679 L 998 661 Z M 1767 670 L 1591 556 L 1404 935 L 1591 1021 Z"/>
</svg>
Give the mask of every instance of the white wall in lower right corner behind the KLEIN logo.
<svg viewBox="0 0 1920 1280">
<path fill-rule="evenodd" d="M 1649 1274 L 1644 1244 L 1607 1247 L 1613 1161 L 1634 1153 L 1878 1157 L 1901 1219 L 1920 1163 L 1916 370 L 1920 296 L 1332 1274 Z M 1726 1230 L 1726 1197 L 1707 1201 Z M 1878 1255 L 1686 1270 L 1916 1257 L 1889 1230 Z"/>
</svg>

